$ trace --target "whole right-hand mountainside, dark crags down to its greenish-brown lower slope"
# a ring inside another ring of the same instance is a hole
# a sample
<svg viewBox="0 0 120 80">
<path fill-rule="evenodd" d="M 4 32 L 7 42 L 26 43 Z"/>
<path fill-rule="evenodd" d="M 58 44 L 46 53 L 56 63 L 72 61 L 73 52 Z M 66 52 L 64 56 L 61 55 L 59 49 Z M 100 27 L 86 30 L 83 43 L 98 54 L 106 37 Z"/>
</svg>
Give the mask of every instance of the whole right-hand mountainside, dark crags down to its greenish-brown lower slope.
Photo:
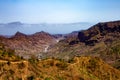
<svg viewBox="0 0 120 80">
<path fill-rule="evenodd" d="M 97 56 L 120 68 L 120 21 L 98 23 L 78 33 L 78 37 L 61 40 L 47 57 L 70 59 L 74 56 Z"/>
</svg>

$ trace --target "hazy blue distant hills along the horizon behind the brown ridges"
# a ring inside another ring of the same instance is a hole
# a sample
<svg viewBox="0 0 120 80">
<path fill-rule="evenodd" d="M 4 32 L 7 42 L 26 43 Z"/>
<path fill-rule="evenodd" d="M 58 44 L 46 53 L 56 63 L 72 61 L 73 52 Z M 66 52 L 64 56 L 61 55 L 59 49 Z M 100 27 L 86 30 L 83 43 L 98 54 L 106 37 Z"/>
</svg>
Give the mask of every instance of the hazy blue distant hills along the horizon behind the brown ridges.
<svg viewBox="0 0 120 80">
<path fill-rule="evenodd" d="M 0 24 L 1 35 L 14 35 L 17 31 L 25 34 L 33 34 L 40 31 L 49 32 L 51 34 L 66 34 L 72 31 L 89 28 L 91 23 L 66 23 L 66 24 L 26 24 L 21 22 L 11 22 L 7 24 Z"/>
</svg>

